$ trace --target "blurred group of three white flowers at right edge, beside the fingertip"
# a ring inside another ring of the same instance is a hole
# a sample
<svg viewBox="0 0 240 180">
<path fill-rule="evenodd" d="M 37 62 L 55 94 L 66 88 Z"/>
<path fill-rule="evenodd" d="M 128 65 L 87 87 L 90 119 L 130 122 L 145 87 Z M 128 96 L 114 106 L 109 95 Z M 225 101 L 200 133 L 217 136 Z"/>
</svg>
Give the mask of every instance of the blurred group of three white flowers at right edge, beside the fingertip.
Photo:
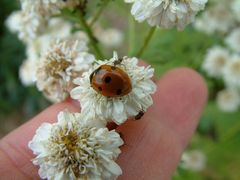
<svg viewBox="0 0 240 180">
<path fill-rule="evenodd" d="M 217 95 L 217 103 L 222 111 L 235 112 L 240 108 L 240 55 L 231 54 L 223 47 L 209 49 L 202 68 L 217 79 L 223 79 L 226 89 Z"/>
</svg>

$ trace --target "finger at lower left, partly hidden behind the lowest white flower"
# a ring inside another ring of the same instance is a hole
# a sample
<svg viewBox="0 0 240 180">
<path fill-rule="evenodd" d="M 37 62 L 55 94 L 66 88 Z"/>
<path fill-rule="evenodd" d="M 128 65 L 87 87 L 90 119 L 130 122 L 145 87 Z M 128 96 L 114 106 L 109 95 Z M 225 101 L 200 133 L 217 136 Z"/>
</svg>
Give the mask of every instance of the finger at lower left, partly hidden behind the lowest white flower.
<svg viewBox="0 0 240 180">
<path fill-rule="evenodd" d="M 1 179 L 25 180 L 36 177 L 38 174 L 37 167 L 33 166 L 31 162 L 33 155 L 27 144 L 43 122 L 56 121 L 59 111 L 65 109 L 71 112 L 79 112 L 79 107 L 70 100 L 52 105 L 0 141 Z"/>
</svg>

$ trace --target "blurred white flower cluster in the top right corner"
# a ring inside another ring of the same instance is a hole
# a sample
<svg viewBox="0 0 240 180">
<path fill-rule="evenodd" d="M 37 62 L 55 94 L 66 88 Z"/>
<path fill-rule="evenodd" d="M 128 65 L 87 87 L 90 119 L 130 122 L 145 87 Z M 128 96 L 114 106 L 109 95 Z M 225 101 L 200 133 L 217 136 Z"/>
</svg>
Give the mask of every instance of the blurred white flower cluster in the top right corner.
<svg viewBox="0 0 240 180">
<path fill-rule="evenodd" d="M 225 34 L 238 26 L 239 9 L 239 0 L 211 0 L 210 7 L 196 19 L 195 28 L 208 34 Z"/>
</svg>

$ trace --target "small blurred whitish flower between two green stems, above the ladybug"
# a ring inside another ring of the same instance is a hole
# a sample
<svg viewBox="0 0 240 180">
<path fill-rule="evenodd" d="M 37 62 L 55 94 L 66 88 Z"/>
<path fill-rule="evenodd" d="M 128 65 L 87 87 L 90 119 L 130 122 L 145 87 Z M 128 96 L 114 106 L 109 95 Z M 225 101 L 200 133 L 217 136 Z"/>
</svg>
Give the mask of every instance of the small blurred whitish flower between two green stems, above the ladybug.
<svg viewBox="0 0 240 180">
<path fill-rule="evenodd" d="M 119 47 L 123 42 L 123 33 L 113 28 L 96 32 L 96 37 L 106 47 Z"/>
</svg>

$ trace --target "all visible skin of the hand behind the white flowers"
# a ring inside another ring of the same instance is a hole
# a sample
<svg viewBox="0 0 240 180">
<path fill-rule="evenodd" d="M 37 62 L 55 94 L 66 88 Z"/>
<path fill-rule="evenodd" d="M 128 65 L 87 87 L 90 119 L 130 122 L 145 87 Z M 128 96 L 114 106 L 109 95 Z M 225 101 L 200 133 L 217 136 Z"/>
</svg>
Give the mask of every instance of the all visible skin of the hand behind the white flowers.
<svg viewBox="0 0 240 180">
<path fill-rule="evenodd" d="M 123 169 L 120 180 L 171 179 L 207 101 L 205 82 L 191 69 L 171 70 L 156 83 L 154 105 L 143 118 L 116 127 L 125 142 L 117 160 Z M 56 122 L 58 112 L 64 109 L 80 110 L 71 100 L 52 105 L 1 139 L 1 180 L 39 179 L 27 144 L 43 122 Z"/>
</svg>

